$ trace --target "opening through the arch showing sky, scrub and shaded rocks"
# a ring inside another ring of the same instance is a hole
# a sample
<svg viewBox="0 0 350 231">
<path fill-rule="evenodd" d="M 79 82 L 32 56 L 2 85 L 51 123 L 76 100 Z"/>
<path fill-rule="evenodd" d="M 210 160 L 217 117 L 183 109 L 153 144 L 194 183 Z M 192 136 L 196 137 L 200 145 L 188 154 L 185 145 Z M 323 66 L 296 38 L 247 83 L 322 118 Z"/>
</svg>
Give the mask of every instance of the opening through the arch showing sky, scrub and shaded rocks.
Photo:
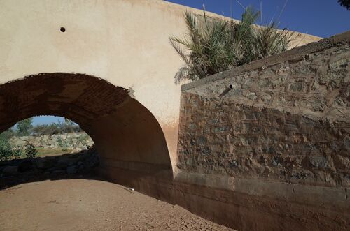
<svg viewBox="0 0 350 231">
<path fill-rule="evenodd" d="M 63 117 L 31 117 L 0 133 L 0 189 L 33 181 L 96 179 L 91 137 Z"/>
</svg>

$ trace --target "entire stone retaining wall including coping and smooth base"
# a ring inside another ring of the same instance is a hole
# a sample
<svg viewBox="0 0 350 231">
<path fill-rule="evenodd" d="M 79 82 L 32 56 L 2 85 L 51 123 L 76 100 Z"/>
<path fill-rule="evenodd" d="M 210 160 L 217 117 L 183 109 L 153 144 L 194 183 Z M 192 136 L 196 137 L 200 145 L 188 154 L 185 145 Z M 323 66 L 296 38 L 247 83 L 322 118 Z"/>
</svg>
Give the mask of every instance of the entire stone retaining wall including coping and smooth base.
<svg viewBox="0 0 350 231">
<path fill-rule="evenodd" d="M 349 228 L 349 43 L 347 32 L 183 86 L 175 179 L 203 186 L 190 194 L 214 211 L 190 209 L 238 230 Z"/>
</svg>

